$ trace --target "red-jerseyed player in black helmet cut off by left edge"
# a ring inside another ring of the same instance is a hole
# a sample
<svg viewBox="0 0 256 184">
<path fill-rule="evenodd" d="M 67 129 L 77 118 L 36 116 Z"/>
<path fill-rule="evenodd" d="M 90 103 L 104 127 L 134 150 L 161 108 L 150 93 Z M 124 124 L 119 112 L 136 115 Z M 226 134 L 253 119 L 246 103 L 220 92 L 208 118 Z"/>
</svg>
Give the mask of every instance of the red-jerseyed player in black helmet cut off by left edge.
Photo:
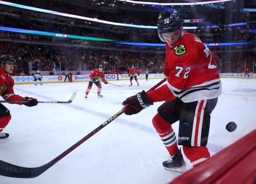
<svg viewBox="0 0 256 184">
<path fill-rule="evenodd" d="M 8 101 L 29 101 L 27 103 L 24 103 L 23 105 L 29 107 L 36 106 L 38 104 L 37 99 L 21 97 L 17 94 L 14 94 L 14 81 L 10 74 L 16 66 L 16 59 L 11 56 L 3 55 L 0 57 L 0 66 L 0 95 L 2 96 L 2 98 Z M 17 104 L 21 105 L 21 103 Z M 4 105 L 0 104 L 0 140 L 9 137 L 9 134 L 3 133 L 2 131 L 8 125 L 11 118 L 12 116 L 9 109 L 7 109 Z"/>
</svg>

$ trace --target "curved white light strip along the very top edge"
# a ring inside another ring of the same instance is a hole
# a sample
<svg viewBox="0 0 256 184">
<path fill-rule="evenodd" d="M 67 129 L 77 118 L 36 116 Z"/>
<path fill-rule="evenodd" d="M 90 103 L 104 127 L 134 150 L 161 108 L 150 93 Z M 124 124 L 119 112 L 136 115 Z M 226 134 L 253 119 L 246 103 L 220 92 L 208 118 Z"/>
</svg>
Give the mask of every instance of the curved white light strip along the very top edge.
<svg viewBox="0 0 256 184">
<path fill-rule="evenodd" d="M 178 2 L 178 3 L 161 3 L 161 2 L 143 2 L 143 1 L 133 1 L 133 0 L 118 0 L 123 2 L 130 2 L 135 4 L 144 4 L 144 5 L 163 5 L 163 6 L 170 6 L 170 5 L 205 5 L 210 3 L 218 3 L 218 2 L 228 2 L 232 0 L 216 0 L 216 1 L 205 1 L 205 2 Z"/>
</svg>

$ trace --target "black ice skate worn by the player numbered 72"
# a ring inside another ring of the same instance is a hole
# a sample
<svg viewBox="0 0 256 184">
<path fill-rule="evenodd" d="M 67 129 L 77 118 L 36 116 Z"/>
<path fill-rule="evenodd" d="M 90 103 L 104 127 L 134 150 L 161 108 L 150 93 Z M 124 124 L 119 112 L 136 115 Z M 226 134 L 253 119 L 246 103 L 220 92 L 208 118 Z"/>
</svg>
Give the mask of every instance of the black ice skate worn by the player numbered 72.
<svg viewBox="0 0 256 184">
<path fill-rule="evenodd" d="M 183 159 L 183 155 L 181 153 L 181 149 L 177 151 L 176 155 L 170 156 L 170 158 L 167 161 L 163 162 L 163 166 L 166 170 L 170 170 L 173 172 L 186 172 L 186 163 Z"/>
</svg>

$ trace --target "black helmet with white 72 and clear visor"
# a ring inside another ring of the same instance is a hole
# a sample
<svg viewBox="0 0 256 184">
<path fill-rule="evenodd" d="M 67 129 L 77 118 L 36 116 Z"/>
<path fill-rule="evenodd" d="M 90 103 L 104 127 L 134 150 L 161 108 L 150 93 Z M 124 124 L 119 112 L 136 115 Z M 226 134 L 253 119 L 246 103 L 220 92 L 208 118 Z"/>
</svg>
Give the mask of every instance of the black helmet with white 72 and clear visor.
<svg viewBox="0 0 256 184">
<path fill-rule="evenodd" d="M 157 22 L 157 33 L 163 42 L 166 42 L 163 37 L 163 33 L 170 33 L 176 30 L 180 30 L 180 32 L 182 32 L 182 29 L 182 19 L 177 10 L 170 9 L 167 11 L 162 11 L 159 14 Z"/>
</svg>

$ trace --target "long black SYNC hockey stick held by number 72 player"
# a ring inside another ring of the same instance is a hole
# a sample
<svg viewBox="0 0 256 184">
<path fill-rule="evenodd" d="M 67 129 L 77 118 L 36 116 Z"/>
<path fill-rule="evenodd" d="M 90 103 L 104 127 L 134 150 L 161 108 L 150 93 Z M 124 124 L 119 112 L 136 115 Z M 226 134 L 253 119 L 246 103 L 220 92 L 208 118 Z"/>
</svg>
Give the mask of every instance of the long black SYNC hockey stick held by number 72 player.
<svg viewBox="0 0 256 184">
<path fill-rule="evenodd" d="M 166 81 L 166 78 L 161 80 L 159 83 L 154 85 L 150 90 L 154 90 L 157 87 L 159 87 L 161 84 L 163 84 Z M 52 167 L 52 165 L 55 165 L 59 160 L 64 158 L 67 154 L 69 154 L 71 151 L 76 149 L 78 146 L 80 146 L 83 142 L 85 142 L 87 139 L 92 137 L 94 134 L 99 132 L 103 127 L 111 123 L 113 120 L 115 120 L 117 117 L 119 117 L 122 113 L 124 113 L 128 107 L 123 107 L 121 111 L 116 113 L 114 116 L 109 118 L 107 121 L 102 123 L 99 127 L 97 127 L 95 130 L 90 132 L 88 135 L 83 137 L 80 141 L 78 141 L 76 144 L 71 146 L 69 149 L 61 153 L 59 156 L 57 156 L 55 159 L 51 160 L 50 162 L 46 163 L 45 165 L 39 166 L 39 167 L 21 167 L 18 165 L 13 165 L 7 162 L 4 162 L 0 160 L 0 175 L 6 176 L 6 177 L 16 177 L 16 178 L 34 178 L 41 175 L 43 172 L 45 172 L 47 169 Z"/>
</svg>

